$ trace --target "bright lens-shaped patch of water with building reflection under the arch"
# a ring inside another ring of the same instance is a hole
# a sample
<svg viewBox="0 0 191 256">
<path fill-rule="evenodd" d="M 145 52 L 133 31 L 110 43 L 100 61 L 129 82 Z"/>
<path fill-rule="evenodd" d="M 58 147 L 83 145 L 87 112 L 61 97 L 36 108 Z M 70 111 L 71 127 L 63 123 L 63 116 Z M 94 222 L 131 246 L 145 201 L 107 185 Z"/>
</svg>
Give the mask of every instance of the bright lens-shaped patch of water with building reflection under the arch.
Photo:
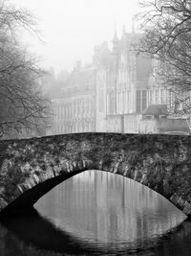
<svg viewBox="0 0 191 256">
<path fill-rule="evenodd" d="M 66 180 L 36 208 L 74 236 L 110 246 L 137 246 L 185 219 L 175 206 L 138 182 L 97 171 Z"/>
</svg>

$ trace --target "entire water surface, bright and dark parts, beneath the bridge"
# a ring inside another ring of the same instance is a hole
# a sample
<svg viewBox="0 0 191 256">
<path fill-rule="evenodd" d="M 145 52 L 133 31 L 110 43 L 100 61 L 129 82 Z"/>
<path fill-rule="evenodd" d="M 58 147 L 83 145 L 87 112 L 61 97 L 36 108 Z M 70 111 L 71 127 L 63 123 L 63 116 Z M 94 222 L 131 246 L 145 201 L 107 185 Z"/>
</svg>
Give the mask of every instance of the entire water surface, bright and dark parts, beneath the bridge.
<svg viewBox="0 0 191 256">
<path fill-rule="evenodd" d="M 1 221 L 1 256 L 190 255 L 191 222 L 172 229 L 184 219 L 180 211 L 118 175 L 76 175 L 35 207 L 40 215 Z"/>
</svg>

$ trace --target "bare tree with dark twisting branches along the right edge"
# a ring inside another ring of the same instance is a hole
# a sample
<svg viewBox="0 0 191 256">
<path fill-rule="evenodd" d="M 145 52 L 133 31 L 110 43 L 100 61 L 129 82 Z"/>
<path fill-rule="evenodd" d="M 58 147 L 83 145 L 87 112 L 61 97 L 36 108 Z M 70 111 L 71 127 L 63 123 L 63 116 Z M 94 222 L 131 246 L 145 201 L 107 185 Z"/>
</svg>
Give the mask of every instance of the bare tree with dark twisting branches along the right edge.
<svg viewBox="0 0 191 256">
<path fill-rule="evenodd" d="M 172 91 L 181 114 L 191 111 L 191 1 L 141 1 L 139 51 L 156 59 L 157 82 Z"/>
</svg>

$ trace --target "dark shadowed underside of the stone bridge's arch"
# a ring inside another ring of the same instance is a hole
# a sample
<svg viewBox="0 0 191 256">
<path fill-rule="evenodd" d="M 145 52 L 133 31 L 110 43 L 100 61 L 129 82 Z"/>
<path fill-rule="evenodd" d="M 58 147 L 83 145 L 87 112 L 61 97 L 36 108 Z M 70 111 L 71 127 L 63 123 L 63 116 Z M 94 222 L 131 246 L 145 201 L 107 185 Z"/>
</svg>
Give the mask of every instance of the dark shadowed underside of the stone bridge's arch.
<svg viewBox="0 0 191 256">
<path fill-rule="evenodd" d="M 54 176 L 53 178 L 49 178 L 46 181 L 43 181 L 35 186 L 33 186 L 31 189 L 27 190 L 24 192 L 22 195 L 20 195 L 18 198 L 14 199 L 5 209 L 3 209 L 0 212 L 0 216 L 9 216 L 9 215 L 21 215 L 21 214 L 26 214 L 32 211 L 33 209 L 33 204 L 41 197 L 43 197 L 45 194 L 47 194 L 49 191 L 53 189 L 53 187 L 57 186 L 64 180 L 74 176 L 78 175 L 80 173 L 83 173 L 85 171 L 92 171 L 89 169 L 84 169 L 84 170 L 76 170 L 72 173 L 62 173 L 61 175 Z M 101 171 L 101 172 L 108 172 L 106 170 L 98 170 L 94 169 L 94 171 Z M 121 173 L 113 173 L 112 174 L 116 175 L 122 175 Z M 124 175 L 122 175 L 124 176 Z M 138 180 L 135 180 L 131 176 L 125 176 L 127 178 L 133 179 L 134 181 L 138 182 Z M 142 184 L 141 182 L 138 182 Z M 145 185 L 145 184 L 142 184 Z M 149 186 L 146 185 L 146 187 L 150 188 Z M 150 188 L 151 190 L 159 193 L 158 189 L 153 189 Z M 160 193 L 159 193 L 160 194 Z M 183 211 L 183 203 L 182 199 L 178 197 L 176 194 L 172 195 L 171 197 L 166 197 L 160 194 L 163 198 L 168 199 L 171 203 L 173 203 L 176 207 L 178 207 L 182 212 Z M 184 203 L 185 204 L 185 203 Z M 189 214 L 187 214 L 188 218 L 191 218 Z"/>
</svg>

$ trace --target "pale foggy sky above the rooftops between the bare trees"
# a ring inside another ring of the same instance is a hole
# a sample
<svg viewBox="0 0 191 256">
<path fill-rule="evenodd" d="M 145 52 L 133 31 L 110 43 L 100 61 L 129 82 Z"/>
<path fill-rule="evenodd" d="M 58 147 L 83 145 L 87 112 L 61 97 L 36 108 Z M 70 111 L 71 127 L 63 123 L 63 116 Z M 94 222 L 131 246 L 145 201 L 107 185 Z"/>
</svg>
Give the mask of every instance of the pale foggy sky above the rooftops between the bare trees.
<svg viewBox="0 0 191 256">
<path fill-rule="evenodd" d="M 132 28 L 132 16 L 138 0 L 11 0 L 16 7 L 32 10 L 44 43 L 26 35 L 30 50 L 42 59 L 45 67 L 56 72 L 71 70 L 77 59 L 91 62 L 94 47 L 104 40 L 111 43 L 115 24 Z"/>
</svg>

